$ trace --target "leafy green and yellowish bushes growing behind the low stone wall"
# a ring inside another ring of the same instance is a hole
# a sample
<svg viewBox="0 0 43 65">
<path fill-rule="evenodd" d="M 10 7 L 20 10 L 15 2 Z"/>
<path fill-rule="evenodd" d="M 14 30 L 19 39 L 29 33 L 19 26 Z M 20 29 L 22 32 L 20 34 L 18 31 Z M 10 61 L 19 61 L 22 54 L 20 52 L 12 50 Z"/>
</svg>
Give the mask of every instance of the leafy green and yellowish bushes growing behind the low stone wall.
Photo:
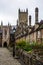
<svg viewBox="0 0 43 65">
<path fill-rule="evenodd" d="M 43 44 L 38 44 L 38 43 L 35 43 L 35 42 L 32 42 L 31 44 L 29 42 L 26 42 L 26 41 L 20 41 L 16 48 L 21 48 L 25 51 L 31 51 L 31 50 L 34 50 L 34 49 L 43 49 Z"/>
</svg>

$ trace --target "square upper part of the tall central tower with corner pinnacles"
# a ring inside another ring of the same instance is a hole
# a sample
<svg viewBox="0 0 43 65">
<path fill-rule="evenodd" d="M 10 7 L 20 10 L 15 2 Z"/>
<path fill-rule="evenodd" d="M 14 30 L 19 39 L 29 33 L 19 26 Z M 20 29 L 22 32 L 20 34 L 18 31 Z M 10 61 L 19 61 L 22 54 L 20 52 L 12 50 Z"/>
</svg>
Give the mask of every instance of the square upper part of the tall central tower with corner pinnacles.
<svg viewBox="0 0 43 65">
<path fill-rule="evenodd" d="M 19 24 L 23 23 L 23 24 L 28 24 L 28 9 L 26 9 L 26 11 L 21 11 L 19 9 L 19 14 L 18 14 L 18 19 L 19 19 Z"/>
</svg>

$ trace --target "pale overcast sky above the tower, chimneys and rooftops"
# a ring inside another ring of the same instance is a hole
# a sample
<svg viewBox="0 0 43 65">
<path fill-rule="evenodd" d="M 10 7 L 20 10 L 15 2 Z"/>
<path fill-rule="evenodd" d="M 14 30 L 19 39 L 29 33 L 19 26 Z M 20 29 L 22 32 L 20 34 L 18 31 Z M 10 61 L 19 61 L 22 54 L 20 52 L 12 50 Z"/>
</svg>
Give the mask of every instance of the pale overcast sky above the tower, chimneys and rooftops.
<svg viewBox="0 0 43 65">
<path fill-rule="evenodd" d="M 18 9 L 26 10 L 32 16 L 32 24 L 35 22 L 35 8 L 39 8 L 39 21 L 43 19 L 43 0 L 0 0 L 0 24 L 3 21 L 4 25 L 8 22 L 16 25 L 18 18 Z"/>
</svg>

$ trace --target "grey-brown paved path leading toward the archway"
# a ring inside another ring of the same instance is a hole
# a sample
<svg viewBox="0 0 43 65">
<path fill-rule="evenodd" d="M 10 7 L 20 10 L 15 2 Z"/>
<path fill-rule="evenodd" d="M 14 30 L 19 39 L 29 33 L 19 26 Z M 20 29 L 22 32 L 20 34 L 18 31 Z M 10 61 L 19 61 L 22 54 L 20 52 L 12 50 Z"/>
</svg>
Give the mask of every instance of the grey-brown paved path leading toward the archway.
<svg viewBox="0 0 43 65">
<path fill-rule="evenodd" d="M 0 65 L 21 65 L 6 48 L 0 48 Z"/>
</svg>

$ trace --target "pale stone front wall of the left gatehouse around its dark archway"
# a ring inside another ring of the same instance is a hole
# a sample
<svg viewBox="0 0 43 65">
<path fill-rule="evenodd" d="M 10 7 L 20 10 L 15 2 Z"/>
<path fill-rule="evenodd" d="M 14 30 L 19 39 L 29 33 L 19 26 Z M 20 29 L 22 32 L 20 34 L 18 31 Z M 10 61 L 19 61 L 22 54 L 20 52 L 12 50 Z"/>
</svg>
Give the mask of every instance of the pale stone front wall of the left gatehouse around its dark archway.
<svg viewBox="0 0 43 65">
<path fill-rule="evenodd" d="M 4 43 L 7 43 L 7 46 L 9 45 L 9 40 L 10 40 L 10 33 L 9 33 L 9 26 L 3 26 L 2 28 L 2 46 L 4 46 Z"/>
</svg>

